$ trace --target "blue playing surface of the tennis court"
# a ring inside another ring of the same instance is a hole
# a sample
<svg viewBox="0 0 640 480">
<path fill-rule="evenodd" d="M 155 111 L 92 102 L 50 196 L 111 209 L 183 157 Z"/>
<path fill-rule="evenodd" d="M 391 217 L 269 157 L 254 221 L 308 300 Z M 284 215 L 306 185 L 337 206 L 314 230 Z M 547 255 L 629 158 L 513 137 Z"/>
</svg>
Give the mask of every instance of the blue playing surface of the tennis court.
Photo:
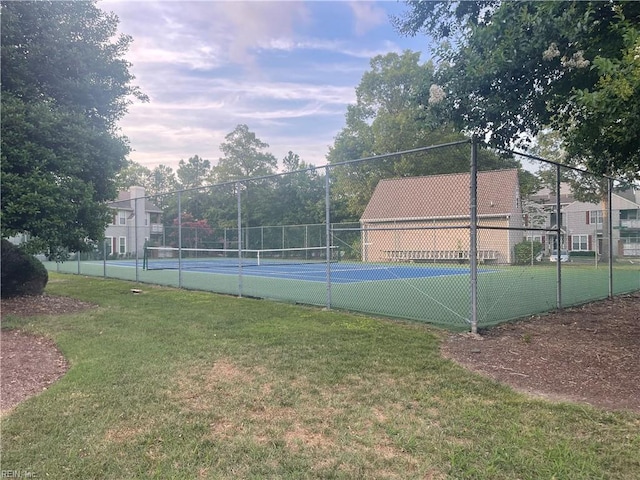
<svg viewBox="0 0 640 480">
<path fill-rule="evenodd" d="M 113 265 L 109 262 L 109 265 Z M 135 262 L 118 262 L 120 266 L 135 267 Z M 366 263 L 338 262 L 331 263 L 330 276 L 333 283 L 356 283 L 384 280 L 399 280 L 412 278 L 444 277 L 451 275 L 469 275 L 469 268 L 441 267 L 441 266 L 393 266 Z M 140 266 L 140 264 L 139 264 Z M 157 271 L 170 271 L 177 269 L 177 265 Z M 239 268 L 184 261 L 181 266 L 183 271 L 196 271 L 215 275 L 237 276 Z M 153 272 L 151 270 L 150 272 Z M 327 265 L 325 263 L 301 264 L 301 265 L 245 265 L 242 267 L 242 275 L 263 278 L 279 278 L 289 280 L 302 280 L 308 282 L 326 282 Z"/>
</svg>

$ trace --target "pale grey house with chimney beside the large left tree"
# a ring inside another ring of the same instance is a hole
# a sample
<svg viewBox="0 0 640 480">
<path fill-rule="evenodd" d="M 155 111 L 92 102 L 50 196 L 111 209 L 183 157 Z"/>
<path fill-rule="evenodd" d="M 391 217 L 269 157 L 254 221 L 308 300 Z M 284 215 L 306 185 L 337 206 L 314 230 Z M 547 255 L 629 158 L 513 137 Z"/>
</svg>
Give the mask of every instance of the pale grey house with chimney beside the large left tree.
<svg viewBox="0 0 640 480">
<path fill-rule="evenodd" d="M 144 196 L 144 187 L 131 187 L 108 204 L 113 216 L 104 234 L 107 255 L 142 257 L 145 242 L 162 238 L 162 210 Z"/>
</svg>

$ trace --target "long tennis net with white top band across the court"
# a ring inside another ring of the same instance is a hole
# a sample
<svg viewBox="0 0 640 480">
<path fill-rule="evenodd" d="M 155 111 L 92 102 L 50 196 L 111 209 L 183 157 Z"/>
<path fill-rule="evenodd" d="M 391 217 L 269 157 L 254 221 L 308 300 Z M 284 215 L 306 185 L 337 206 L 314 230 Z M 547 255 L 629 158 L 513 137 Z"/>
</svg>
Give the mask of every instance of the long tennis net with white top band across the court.
<svg viewBox="0 0 640 480">
<path fill-rule="evenodd" d="M 337 247 L 274 248 L 231 250 L 218 248 L 146 247 L 146 270 L 215 269 L 220 267 L 259 267 L 336 262 Z"/>
</svg>

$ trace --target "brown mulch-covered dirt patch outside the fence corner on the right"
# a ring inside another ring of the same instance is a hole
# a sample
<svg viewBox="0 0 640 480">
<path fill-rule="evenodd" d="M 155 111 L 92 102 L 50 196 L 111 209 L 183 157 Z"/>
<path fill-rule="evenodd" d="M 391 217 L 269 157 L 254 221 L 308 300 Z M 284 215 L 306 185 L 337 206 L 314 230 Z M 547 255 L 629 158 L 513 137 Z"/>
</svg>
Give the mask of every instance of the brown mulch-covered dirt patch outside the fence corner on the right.
<svg viewBox="0 0 640 480">
<path fill-rule="evenodd" d="M 640 411 L 640 292 L 451 334 L 445 357 L 515 389 Z"/>
</svg>

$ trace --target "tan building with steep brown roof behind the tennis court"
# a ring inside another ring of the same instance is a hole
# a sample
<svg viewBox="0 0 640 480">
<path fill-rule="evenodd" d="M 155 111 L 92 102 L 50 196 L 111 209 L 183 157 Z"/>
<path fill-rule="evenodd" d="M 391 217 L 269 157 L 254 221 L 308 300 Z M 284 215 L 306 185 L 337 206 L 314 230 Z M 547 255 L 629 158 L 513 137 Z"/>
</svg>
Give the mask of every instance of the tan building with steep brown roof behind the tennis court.
<svg viewBox="0 0 640 480">
<path fill-rule="evenodd" d="M 523 239 L 516 169 L 479 172 L 478 260 L 512 263 Z M 365 262 L 468 261 L 470 174 L 380 180 L 360 219 Z M 484 229 L 483 229 L 484 227 Z"/>
</svg>

